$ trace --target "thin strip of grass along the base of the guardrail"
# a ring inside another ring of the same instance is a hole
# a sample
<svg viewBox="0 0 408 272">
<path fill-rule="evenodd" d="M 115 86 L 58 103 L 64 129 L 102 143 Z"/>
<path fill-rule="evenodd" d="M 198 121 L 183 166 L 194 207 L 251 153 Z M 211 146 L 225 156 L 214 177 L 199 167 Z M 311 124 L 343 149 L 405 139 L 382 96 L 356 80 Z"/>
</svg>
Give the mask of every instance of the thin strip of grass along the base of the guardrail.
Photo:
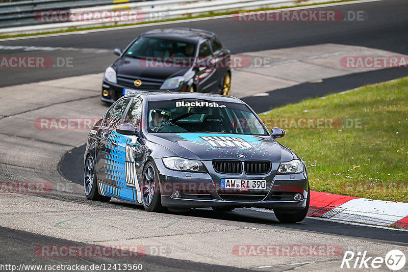
<svg viewBox="0 0 408 272">
<path fill-rule="evenodd" d="M 186 17 L 172 18 L 172 19 L 166 19 L 166 20 L 157 20 L 157 21 L 146 21 L 146 22 L 117 24 L 117 25 L 101 25 L 101 26 L 92 26 L 92 27 L 89 27 L 89 28 L 72 27 L 71 29 L 66 29 L 66 30 L 47 31 L 47 32 L 29 33 L 29 34 L 0 35 L 0 39 L 38 36 L 38 35 L 48 35 L 48 34 L 58 34 L 58 33 L 76 32 L 76 31 L 97 30 L 97 29 L 111 29 L 111 28 L 120 28 L 122 26 L 137 25 L 137 24 L 148 24 L 148 23 L 160 23 L 160 22 L 167 22 L 167 21 L 181 21 L 181 22 L 183 22 L 183 20 L 189 20 L 189 19 L 206 18 L 206 17 L 213 17 L 213 16 L 221 16 L 221 15 L 230 15 L 230 14 L 234 14 L 234 13 L 236 13 L 238 11 L 247 11 L 247 12 L 249 12 L 249 11 L 276 10 L 276 9 L 286 9 L 286 8 L 294 8 L 294 7 L 316 6 L 316 5 L 331 4 L 331 3 L 352 2 L 352 1 L 358 1 L 358 0 L 328 1 L 328 2 L 324 2 L 324 3 L 314 3 L 314 4 L 296 5 L 296 6 L 284 6 L 284 7 L 278 7 L 278 8 L 263 8 L 263 9 L 253 9 L 253 10 L 236 10 L 236 11 L 228 11 L 228 12 L 209 12 L 209 13 L 201 14 L 201 15 L 197 15 L 197 16 L 186 16 Z"/>
</svg>

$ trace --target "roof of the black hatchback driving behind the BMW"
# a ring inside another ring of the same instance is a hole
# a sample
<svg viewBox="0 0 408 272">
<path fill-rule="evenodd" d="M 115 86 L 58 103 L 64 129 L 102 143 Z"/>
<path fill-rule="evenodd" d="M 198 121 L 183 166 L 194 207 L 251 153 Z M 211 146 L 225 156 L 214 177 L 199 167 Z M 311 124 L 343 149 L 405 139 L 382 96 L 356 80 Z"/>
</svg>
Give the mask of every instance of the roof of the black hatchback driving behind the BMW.
<svg viewBox="0 0 408 272">
<path fill-rule="evenodd" d="M 213 37 L 215 34 L 210 31 L 199 29 L 172 28 L 150 30 L 143 33 L 141 36 L 198 42 L 202 39 Z"/>
</svg>

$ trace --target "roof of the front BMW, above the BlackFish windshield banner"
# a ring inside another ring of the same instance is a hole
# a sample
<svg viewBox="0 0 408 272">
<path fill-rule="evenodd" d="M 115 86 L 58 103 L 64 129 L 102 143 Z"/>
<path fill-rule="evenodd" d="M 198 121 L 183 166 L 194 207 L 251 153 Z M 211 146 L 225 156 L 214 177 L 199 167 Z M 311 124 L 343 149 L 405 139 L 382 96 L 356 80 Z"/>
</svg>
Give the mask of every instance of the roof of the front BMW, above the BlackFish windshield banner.
<svg viewBox="0 0 408 272">
<path fill-rule="evenodd" d="M 216 102 L 233 102 L 245 104 L 240 99 L 229 96 L 229 95 L 220 95 L 220 94 L 207 94 L 207 93 L 189 93 L 189 92 L 145 92 L 138 94 L 128 94 L 123 97 L 140 97 L 143 100 L 147 101 L 168 101 L 175 99 L 202 99 L 208 101 Z"/>
</svg>

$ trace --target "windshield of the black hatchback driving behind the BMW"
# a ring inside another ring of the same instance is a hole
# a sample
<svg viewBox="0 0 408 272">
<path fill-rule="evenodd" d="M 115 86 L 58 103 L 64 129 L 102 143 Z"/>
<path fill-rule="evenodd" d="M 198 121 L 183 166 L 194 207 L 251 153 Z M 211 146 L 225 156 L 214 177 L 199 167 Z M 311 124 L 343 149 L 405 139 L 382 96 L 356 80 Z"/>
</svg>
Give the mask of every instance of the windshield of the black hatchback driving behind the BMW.
<svg viewBox="0 0 408 272">
<path fill-rule="evenodd" d="M 125 55 L 134 58 L 194 57 L 195 44 L 152 37 L 137 39 Z"/>
</svg>

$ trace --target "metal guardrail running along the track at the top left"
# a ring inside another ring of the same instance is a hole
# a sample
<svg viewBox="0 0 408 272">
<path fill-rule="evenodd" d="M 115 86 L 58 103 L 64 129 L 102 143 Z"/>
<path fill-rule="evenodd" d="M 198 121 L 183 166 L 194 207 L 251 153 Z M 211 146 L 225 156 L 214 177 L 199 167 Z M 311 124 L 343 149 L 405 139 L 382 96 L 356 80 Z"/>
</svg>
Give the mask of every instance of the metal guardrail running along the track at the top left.
<svg viewBox="0 0 408 272">
<path fill-rule="evenodd" d="M 171 19 L 210 12 L 294 6 L 319 2 L 327 2 L 327 0 L 33 0 L 0 3 L 0 34 L 38 33 L 99 25 L 120 25 L 139 21 L 74 19 L 52 22 L 36 18 L 39 11 L 63 10 L 70 14 L 102 13 L 103 11 L 137 12 L 138 16 L 139 14 L 145 15 L 142 21 L 154 21 L 158 20 L 157 17 L 153 16 L 157 14 L 161 15 L 159 19 Z M 111 14 L 112 17 L 108 18 L 114 18 L 114 12 Z"/>
</svg>

